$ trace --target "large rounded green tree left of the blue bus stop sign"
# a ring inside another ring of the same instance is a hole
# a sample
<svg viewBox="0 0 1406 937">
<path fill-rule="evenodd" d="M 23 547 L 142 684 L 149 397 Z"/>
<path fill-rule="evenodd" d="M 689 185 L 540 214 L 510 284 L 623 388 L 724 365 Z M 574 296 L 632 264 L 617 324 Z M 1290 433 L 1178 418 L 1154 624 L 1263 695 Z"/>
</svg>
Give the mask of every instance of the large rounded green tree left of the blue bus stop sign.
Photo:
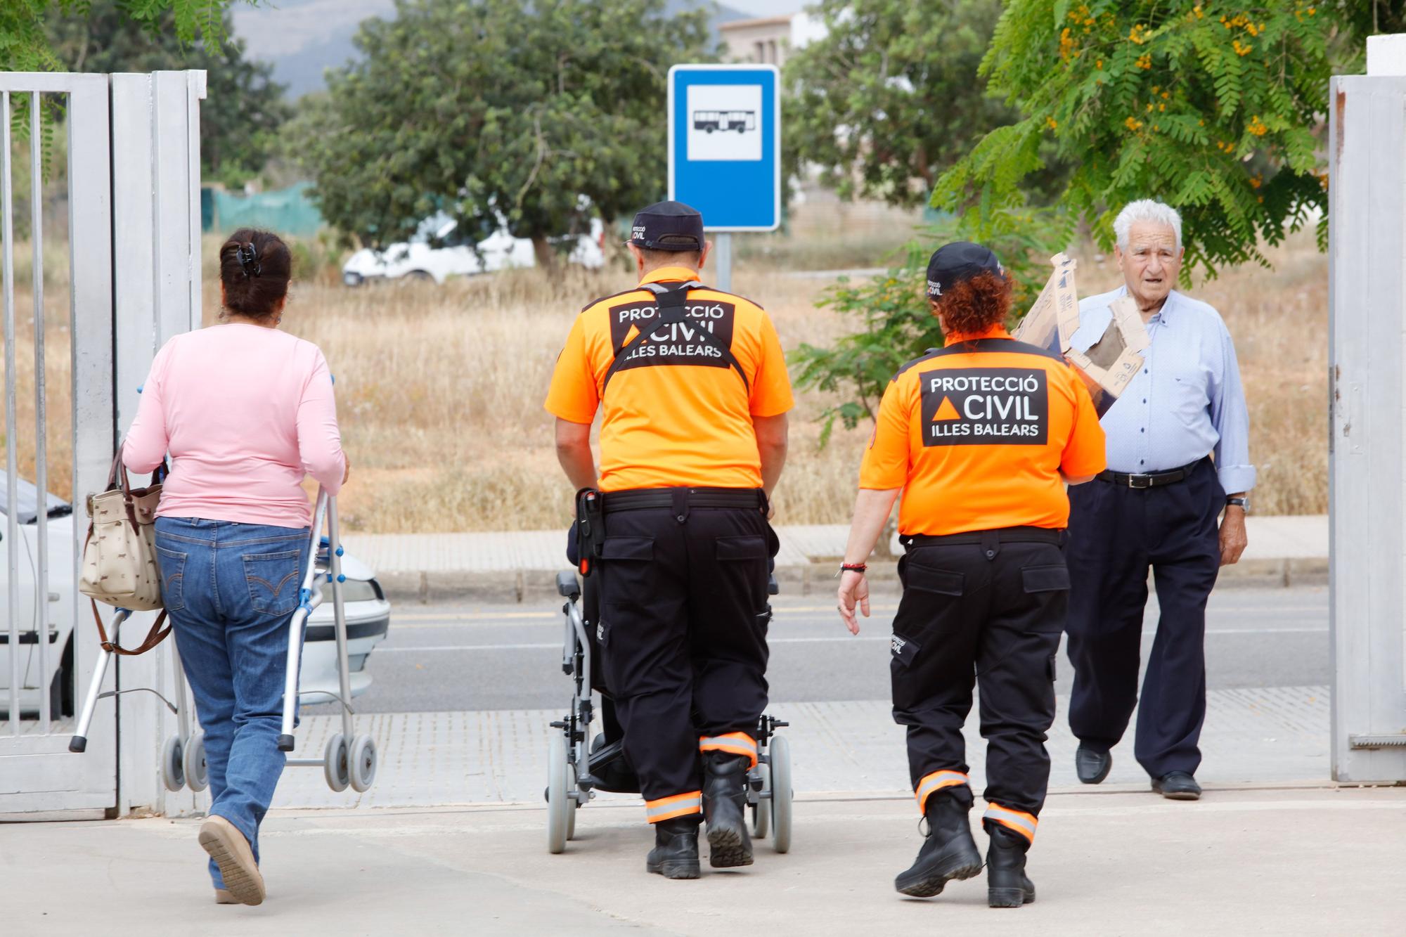
<svg viewBox="0 0 1406 937">
<path fill-rule="evenodd" d="M 665 194 L 665 80 L 706 60 L 706 11 L 662 0 L 398 0 L 301 121 L 322 212 L 374 243 L 436 211 L 531 238 Z"/>
</svg>

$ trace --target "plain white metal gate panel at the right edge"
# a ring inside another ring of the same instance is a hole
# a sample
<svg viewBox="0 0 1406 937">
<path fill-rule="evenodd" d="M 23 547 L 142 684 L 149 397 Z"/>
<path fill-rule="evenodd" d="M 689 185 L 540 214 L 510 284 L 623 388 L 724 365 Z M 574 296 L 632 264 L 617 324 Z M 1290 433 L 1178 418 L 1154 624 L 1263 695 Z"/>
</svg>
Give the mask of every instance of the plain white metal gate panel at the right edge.
<svg viewBox="0 0 1406 937">
<path fill-rule="evenodd" d="M 1406 77 L 1371 72 L 1330 90 L 1333 777 L 1393 782 L 1406 779 Z"/>
</svg>

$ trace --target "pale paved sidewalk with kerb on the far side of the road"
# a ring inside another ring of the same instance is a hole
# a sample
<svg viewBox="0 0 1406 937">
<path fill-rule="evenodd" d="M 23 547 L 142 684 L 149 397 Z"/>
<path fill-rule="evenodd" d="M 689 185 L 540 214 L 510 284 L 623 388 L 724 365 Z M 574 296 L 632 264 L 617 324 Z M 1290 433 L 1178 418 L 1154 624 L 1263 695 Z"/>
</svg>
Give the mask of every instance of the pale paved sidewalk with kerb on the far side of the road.
<svg viewBox="0 0 1406 937">
<path fill-rule="evenodd" d="M 1220 571 L 1227 585 L 1309 585 L 1327 581 L 1327 515 L 1247 521 L 1250 546 L 1239 564 Z M 782 525 L 776 575 L 787 592 L 834 588 L 834 567 L 845 552 L 842 523 Z M 554 595 L 567 567 L 565 530 L 499 533 L 349 533 L 347 550 L 377 571 L 392 598 L 405 601 L 536 601 Z M 897 539 L 890 544 L 897 552 Z M 870 580 L 894 580 L 879 563 Z"/>
</svg>

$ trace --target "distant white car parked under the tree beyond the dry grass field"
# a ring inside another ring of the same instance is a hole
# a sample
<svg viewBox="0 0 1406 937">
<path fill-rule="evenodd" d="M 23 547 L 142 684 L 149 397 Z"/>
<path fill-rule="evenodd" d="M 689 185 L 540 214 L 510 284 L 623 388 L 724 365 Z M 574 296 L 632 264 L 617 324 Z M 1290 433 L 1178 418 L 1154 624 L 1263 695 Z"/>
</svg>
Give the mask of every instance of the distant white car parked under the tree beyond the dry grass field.
<svg viewBox="0 0 1406 937">
<path fill-rule="evenodd" d="M 537 257 L 531 241 L 508 234 L 506 225 L 478 242 L 478 249 L 458 239 L 457 222 L 437 214 L 420 222 L 409 241 L 392 243 L 384 250 L 363 248 L 342 264 L 342 283 L 356 287 L 367 280 L 433 280 L 443 284 L 453 276 L 474 276 L 517 267 L 533 267 Z M 568 263 L 588 269 L 605 264 L 605 225 L 592 218 L 591 234 L 557 238 L 554 242 L 574 241 Z M 434 246 L 440 245 L 440 246 Z"/>
</svg>

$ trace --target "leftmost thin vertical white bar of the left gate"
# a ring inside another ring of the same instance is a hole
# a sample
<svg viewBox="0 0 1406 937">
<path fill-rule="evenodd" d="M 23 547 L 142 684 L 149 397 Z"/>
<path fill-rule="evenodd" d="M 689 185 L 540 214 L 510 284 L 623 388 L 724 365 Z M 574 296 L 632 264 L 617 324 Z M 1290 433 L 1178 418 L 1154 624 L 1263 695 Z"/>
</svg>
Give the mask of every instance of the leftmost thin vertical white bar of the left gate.
<svg viewBox="0 0 1406 937">
<path fill-rule="evenodd" d="M 20 499 L 15 463 L 14 412 L 17 390 L 14 373 L 14 193 L 10 180 L 10 91 L 0 93 L 0 200 L 4 203 L 0 238 L 4 239 L 4 464 L 6 464 L 6 560 L 8 588 L 6 599 L 10 615 L 10 734 L 20 734 L 20 523 L 15 504 Z"/>
</svg>

